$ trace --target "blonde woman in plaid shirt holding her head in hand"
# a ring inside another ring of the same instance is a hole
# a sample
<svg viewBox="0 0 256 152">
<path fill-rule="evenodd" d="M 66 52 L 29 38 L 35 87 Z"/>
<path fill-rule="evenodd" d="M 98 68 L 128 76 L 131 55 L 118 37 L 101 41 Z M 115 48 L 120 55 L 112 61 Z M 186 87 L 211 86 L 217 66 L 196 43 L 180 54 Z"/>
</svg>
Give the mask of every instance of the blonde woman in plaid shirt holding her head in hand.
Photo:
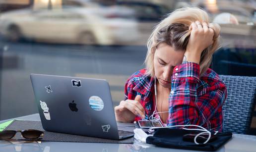
<svg viewBox="0 0 256 152">
<path fill-rule="evenodd" d="M 222 131 L 226 86 L 209 68 L 218 49 L 220 27 L 207 13 L 183 7 L 170 13 L 148 40 L 145 69 L 125 85 L 117 121 L 160 120 L 166 126 L 200 125 Z"/>
</svg>

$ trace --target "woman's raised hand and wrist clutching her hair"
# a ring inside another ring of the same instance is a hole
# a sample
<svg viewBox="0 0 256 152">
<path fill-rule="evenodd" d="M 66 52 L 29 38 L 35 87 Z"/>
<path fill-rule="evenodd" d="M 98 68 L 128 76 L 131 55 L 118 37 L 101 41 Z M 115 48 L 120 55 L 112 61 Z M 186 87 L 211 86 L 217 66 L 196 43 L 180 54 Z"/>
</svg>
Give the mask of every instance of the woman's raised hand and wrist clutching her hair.
<svg viewBox="0 0 256 152">
<path fill-rule="evenodd" d="M 193 22 L 189 30 L 192 31 L 185 56 L 188 62 L 199 64 L 202 51 L 213 44 L 214 30 L 206 22 L 199 21 Z"/>
</svg>

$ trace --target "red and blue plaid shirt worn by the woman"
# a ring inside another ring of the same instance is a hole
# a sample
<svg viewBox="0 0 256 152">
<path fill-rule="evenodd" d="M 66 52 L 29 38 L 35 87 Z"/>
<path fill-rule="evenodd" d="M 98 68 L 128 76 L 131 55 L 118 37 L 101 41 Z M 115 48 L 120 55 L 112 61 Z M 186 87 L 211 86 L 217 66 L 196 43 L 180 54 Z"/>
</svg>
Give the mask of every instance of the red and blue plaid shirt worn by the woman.
<svg viewBox="0 0 256 152">
<path fill-rule="evenodd" d="M 199 64 L 192 62 L 174 67 L 167 126 L 193 124 L 221 132 L 226 86 L 210 68 L 199 78 L 199 69 Z M 154 111 L 154 78 L 145 75 L 145 72 L 146 69 L 139 70 L 128 79 L 125 100 L 134 100 L 136 95 L 140 95 L 140 103 L 148 119 Z M 141 120 L 141 117 L 135 117 L 137 120 Z"/>
</svg>

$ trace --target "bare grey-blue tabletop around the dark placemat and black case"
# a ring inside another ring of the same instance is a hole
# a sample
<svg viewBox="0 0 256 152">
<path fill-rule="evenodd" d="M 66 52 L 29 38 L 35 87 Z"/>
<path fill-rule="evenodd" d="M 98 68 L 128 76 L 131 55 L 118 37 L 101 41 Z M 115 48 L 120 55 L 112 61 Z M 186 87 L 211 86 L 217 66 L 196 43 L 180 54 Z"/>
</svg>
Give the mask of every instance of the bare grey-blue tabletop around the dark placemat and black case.
<svg viewBox="0 0 256 152">
<path fill-rule="evenodd" d="M 19 120 L 40 121 L 38 113 L 18 117 Z M 2 120 L 3 123 L 7 120 Z M 0 141 L 0 152 L 196 152 L 155 147 L 134 141 L 133 144 L 108 143 L 10 143 Z M 256 152 L 256 136 L 234 134 L 233 138 L 216 152 Z"/>
</svg>

